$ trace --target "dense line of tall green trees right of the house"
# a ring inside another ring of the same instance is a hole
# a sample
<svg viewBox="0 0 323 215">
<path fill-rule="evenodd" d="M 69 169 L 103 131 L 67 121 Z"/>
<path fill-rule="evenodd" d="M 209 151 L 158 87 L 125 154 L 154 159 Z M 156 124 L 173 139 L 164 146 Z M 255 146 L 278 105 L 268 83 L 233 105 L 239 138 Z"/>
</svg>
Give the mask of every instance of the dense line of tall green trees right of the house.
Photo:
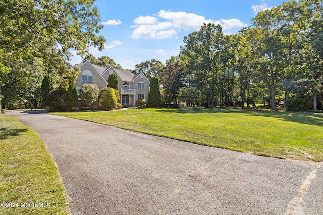
<svg viewBox="0 0 323 215">
<path fill-rule="evenodd" d="M 166 101 L 177 103 L 181 88 L 194 87 L 207 107 L 322 109 L 322 17 L 321 1 L 301 0 L 259 12 L 252 26 L 234 35 L 204 24 L 184 37 L 179 56 L 159 76 Z"/>
</svg>

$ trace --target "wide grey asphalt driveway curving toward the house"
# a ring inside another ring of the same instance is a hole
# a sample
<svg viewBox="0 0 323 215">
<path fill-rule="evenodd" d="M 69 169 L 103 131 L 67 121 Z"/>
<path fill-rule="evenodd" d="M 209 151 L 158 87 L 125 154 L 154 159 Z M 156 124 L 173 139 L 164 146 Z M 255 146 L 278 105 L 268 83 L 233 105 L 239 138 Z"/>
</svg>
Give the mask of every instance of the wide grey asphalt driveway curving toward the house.
<svg viewBox="0 0 323 215">
<path fill-rule="evenodd" d="M 46 113 L 7 114 L 44 140 L 73 214 L 323 214 L 320 163 L 260 157 Z"/>
</svg>

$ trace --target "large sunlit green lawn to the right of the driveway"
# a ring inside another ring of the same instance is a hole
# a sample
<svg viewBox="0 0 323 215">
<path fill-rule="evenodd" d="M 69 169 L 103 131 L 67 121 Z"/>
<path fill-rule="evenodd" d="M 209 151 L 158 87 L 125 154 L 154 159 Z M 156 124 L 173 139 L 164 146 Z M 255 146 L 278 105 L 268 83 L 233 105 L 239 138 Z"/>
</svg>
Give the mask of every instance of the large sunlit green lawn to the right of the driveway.
<svg viewBox="0 0 323 215">
<path fill-rule="evenodd" d="M 53 114 L 257 155 L 323 161 L 319 113 L 148 108 Z"/>
</svg>

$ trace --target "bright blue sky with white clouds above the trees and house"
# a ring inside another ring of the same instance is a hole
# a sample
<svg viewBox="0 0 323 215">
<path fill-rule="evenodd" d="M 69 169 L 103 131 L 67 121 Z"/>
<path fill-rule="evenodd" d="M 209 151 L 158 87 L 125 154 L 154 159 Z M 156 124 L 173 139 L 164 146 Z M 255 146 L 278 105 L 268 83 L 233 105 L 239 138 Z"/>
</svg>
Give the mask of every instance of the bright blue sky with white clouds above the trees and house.
<svg viewBox="0 0 323 215">
<path fill-rule="evenodd" d="M 90 48 L 95 57 L 109 56 L 124 69 L 134 69 L 146 60 L 165 63 L 177 56 L 184 36 L 203 23 L 221 24 L 225 34 L 250 25 L 260 10 L 281 5 L 284 0 L 97 0 L 101 23 L 99 35 L 105 49 Z M 72 57 L 71 64 L 82 61 Z"/>
</svg>

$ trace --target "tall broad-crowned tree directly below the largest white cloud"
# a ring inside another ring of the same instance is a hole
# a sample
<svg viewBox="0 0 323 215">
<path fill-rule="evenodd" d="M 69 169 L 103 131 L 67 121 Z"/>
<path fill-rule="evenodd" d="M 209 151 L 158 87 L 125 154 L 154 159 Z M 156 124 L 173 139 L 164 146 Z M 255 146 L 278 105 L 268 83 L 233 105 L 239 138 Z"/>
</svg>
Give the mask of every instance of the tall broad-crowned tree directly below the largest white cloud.
<svg viewBox="0 0 323 215">
<path fill-rule="evenodd" d="M 189 73 L 193 74 L 192 84 L 204 92 L 207 107 L 217 104 L 219 80 L 222 71 L 221 55 L 223 54 L 223 39 L 221 25 L 205 24 L 198 32 L 184 37 L 185 46 L 181 47 L 182 62 Z"/>
</svg>

